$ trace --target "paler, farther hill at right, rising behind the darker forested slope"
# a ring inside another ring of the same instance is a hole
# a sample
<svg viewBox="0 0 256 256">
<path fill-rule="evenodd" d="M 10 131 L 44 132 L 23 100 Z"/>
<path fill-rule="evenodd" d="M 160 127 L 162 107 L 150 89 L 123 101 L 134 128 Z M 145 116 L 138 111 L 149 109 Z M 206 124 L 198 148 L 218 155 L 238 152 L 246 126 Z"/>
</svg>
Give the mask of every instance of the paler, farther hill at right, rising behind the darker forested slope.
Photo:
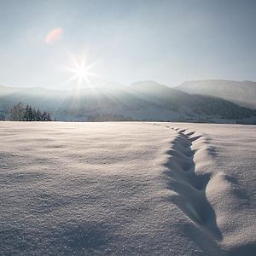
<svg viewBox="0 0 256 256">
<path fill-rule="evenodd" d="M 256 83 L 251 81 L 188 81 L 176 87 L 189 94 L 216 96 L 242 107 L 256 109 Z"/>
</svg>

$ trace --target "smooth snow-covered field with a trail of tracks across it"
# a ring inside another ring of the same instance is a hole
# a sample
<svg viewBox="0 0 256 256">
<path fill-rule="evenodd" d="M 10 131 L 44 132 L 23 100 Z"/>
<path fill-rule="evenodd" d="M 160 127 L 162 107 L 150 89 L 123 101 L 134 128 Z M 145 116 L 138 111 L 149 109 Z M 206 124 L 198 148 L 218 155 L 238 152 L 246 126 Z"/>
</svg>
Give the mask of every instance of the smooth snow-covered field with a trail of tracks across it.
<svg viewBox="0 0 256 256">
<path fill-rule="evenodd" d="M 0 122 L 0 253 L 253 255 L 255 153 L 255 125 Z"/>
</svg>

